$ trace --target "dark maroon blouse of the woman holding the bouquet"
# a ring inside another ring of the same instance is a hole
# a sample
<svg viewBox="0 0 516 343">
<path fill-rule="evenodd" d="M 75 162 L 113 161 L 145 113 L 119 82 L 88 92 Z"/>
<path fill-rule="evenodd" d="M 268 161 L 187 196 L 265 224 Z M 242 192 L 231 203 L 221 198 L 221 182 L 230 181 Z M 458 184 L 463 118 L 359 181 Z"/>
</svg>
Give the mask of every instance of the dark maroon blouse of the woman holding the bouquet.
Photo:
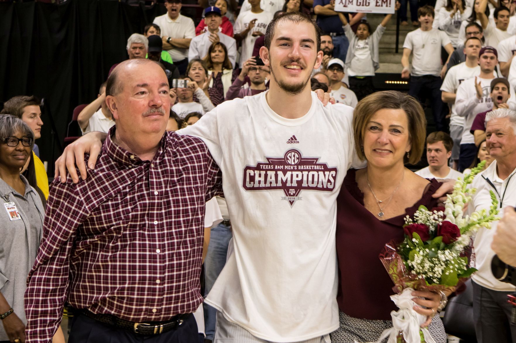
<svg viewBox="0 0 516 343">
<path fill-rule="evenodd" d="M 412 217 L 420 205 L 437 206 L 432 194 L 441 184 L 432 179 L 405 214 L 382 221 L 364 207 L 355 174 L 356 170 L 348 170 L 337 197 L 338 308 L 355 318 L 391 320 L 391 311 L 398 310 L 390 298 L 394 283 L 378 255 L 386 243 L 402 241 L 405 216 Z"/>
</svg>

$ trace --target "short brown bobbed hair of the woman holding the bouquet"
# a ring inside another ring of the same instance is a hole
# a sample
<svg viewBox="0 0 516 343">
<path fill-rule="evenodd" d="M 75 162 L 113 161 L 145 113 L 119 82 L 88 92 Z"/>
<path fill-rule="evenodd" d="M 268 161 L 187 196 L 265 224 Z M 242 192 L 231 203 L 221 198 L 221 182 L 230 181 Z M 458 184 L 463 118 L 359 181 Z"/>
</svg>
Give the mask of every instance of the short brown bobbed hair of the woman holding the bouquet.
<svg viewBox="0 0 516 343">
<path fill-rule="evenodd" d="M 367 123 L 371 117 L 383 109 L 404 110 L 409 122 L 409 140 L 411 143 L 410 158 L 405 163 L 416 164 L 421 160 L 425 150 L 426 118 L 419 101 L 406 93 L 383 91 L 370 94 L 360 100 L 354 109 L 353 131 L 355 149 L 358 157 L 365 160 L 362 144 Z"/>
</svg>

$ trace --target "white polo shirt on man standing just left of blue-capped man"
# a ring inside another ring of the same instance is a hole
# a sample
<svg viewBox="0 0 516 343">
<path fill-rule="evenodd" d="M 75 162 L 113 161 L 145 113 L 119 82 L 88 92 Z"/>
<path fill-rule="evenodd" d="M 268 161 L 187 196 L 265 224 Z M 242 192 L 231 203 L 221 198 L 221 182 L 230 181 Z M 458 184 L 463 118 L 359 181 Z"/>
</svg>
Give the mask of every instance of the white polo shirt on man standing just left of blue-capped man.
<svg viewBox="0 0 516 343">
<path fill-rule="evenodd" d="M 193 38 L 195 37 L 195 25 L 193 20 L 179 14 L 175 20 L 170 19 L 168 13 L 157 16 L 154 19 L 154 23 L 159 25 L 161 30 L 161 37 L 172 37 L 172 38 Z M 188 58 L 188 49 L 173 47 L 170 50 L 165 50 L 172 57 L 173 62 L 179 62 Z"/>
</svg>

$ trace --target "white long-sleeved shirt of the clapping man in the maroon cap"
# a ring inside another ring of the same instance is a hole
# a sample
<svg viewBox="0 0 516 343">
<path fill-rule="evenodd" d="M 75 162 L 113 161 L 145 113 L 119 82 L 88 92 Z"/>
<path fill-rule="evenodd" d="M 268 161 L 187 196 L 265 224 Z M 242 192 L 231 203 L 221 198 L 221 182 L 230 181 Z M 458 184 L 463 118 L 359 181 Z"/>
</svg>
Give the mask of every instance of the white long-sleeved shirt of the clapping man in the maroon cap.
<svg viewBox="0 0 516 343">
<path fill-rule="evenodd" d="M 475 138 L 473 134 L 471 134 L 470 129 L 476 115 L 493 108 L 493 102 L 489 95 L 489 93 L 491 93 L 492 80 L 493 79 L 481 79 L 477 77 L 477 82 L 481 81 L 482 85 L 482 98 L 480 99 L 477 98 L 474 77 L 462 81 L 457 90 L 455 110 L 458 115 L 464 117 L 464 131 L 462 131 L 461 145 L 475 143 Z"/>
</svg>

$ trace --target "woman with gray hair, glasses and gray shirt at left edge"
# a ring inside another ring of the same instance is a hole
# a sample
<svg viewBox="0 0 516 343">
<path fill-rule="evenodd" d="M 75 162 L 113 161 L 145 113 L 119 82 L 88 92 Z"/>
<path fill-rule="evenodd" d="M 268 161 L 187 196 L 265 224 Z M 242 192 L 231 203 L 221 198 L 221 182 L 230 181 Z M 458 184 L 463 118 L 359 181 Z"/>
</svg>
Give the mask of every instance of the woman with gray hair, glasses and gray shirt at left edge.
<svg viewBox="0 0 516 343">
<path fill-rule="evenodd" d="M 20 168 L 32 153 L 34 133 L 21 119 L 0 115 L 0 342 L 25 341 L 23 294 L 42 235 L 41 198 Z"/>
</svg>

